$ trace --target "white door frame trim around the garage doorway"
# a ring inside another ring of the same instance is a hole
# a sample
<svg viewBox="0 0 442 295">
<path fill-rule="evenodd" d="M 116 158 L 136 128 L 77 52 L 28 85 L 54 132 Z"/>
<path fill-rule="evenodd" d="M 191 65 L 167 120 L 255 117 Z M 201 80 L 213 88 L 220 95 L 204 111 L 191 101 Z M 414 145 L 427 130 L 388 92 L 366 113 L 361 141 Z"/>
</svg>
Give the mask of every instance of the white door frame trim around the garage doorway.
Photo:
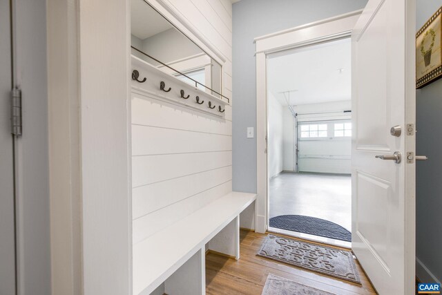
<svg viewBox="0 0 442 295">
<path fill-rule="evenodd" d="M 351 37 L 362 10 L 257 37 L 256 42 L 256 154 L 257 193 L 255 229 L 267 231 L 269 193 L 267 173 L 267 55 L 336 39 Z"/>
</svg>

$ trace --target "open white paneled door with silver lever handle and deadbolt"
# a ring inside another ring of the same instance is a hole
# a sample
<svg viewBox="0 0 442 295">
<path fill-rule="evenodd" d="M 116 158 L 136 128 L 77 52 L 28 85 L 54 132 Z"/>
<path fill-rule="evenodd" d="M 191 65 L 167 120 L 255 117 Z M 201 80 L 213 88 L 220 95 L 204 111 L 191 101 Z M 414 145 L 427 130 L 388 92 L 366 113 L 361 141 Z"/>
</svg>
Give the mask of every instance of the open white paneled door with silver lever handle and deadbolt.
<svg viewBox="0 0 442 295">
<path fill-rule="evenodd" d="M 413 0 L 369 0 L 352 33 L 352 248 L 379 294 L 414 294 L 414 31 Z"/>
</svg>

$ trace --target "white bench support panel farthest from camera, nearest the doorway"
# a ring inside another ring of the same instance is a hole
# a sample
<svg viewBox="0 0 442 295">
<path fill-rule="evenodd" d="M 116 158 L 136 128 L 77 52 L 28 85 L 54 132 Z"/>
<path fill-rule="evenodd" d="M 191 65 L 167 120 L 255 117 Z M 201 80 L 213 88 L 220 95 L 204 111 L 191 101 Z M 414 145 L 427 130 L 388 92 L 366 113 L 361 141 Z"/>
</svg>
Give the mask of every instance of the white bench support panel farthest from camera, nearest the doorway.
<svg viewBox="0 0 442 295">
<path fill-rule="evenodd" d="M 240 216 L 210 240 L 209 250 L 240 259 Z"/>
</svg>

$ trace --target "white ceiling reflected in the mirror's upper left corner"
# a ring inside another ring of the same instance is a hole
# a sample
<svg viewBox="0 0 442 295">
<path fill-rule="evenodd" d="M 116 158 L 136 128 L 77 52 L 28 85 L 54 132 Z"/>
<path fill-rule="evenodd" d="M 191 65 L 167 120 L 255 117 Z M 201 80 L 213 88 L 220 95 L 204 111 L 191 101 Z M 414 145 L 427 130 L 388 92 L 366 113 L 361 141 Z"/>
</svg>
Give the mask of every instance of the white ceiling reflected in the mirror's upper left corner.
<svg viewBox="0 0 442 295">
<path fill-rule="evenodd" d="M 169 21 L 143 0 L 131 1 L 131 34 L 146 39 L 173 28 Z"/>
</svg>

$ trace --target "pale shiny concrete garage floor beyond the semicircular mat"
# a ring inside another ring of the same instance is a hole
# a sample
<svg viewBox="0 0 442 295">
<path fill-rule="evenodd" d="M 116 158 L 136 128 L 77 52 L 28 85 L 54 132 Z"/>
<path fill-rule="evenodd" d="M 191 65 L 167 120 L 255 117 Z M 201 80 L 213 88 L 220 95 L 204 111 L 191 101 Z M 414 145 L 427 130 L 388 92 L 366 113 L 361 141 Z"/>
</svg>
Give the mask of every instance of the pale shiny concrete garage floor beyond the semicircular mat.
<svg viewBox="0 0 442 295">
<path fill-rule="evenodd" d="M 342 174 L 282 172 L 270 180 L 270 218 L 304 215 L 352 231 L 352 177 Z"/>
</svg>

